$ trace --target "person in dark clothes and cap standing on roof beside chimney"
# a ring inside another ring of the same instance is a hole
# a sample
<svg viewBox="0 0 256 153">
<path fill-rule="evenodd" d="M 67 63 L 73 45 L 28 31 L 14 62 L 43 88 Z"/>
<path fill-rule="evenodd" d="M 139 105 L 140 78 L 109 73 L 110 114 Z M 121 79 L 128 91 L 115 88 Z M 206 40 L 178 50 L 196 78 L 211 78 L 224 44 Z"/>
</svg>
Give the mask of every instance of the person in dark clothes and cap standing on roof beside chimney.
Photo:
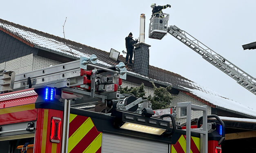
<svg viewBox="0 0 256 153">
<path fill-rule="evenodd" d="M 137 39 L 132 39 L 132 33 L 129 33 L 128 37 L 125 37 L 125 46 L 127 49 L 127 54 L 125 58 L 125 63 L 128 63 L 129 59 L 129 64 L 132 64 L 132 56 L 133 56 L 133 49 L 134 49 L 134 44 L 137 44 L 138 40 Z M 130 58 L 129 58 L 130 56 Z"/>
</svg>

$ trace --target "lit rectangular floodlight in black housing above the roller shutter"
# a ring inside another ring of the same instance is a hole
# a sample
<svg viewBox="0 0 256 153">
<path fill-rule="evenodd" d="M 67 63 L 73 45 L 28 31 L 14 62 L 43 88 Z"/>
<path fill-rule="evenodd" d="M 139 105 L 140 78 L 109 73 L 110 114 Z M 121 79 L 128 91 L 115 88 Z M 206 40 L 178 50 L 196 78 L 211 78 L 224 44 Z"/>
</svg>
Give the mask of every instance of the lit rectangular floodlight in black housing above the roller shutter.
<svg viewBox="0 0 256 153">
<path fill-rule="evenodd" d="M 146 117 L 129 111 L 114 110 L 111 116 L 115 117 L 114 125 L 120 129 L 127 129 L 154 135 L 162 135 L 171 131 L 170 122 L 160 118 Z"/>
</svg>

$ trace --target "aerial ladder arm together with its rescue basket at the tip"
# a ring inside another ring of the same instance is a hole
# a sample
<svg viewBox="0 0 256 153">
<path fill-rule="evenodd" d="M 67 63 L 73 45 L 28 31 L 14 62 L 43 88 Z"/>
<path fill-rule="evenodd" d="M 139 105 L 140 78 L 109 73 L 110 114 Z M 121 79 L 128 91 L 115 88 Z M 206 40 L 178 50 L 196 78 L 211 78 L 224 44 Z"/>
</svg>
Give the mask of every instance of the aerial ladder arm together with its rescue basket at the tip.
<svg viewBox="0 0 256 153">
<path fill-rule="evenodd" d="M 157 13 L 155 13 L 157 14 Z M 159 14 L 159 13 L 158 13 Z M 238 68 L 235 64 L 225 59 L 223 56 L 214 52 L 211 48 L 200 42 L 198 39 L 181 30 L 175 25 L 168 27 L 169 14 L 163 14 L 165 17 L 159 18 L 153 15 L 150 18 L 149 38 L 162 39 L 167 33 L 174 36 L 180 42 L 197 52 L 206 61 L 214 65 L 216 68 L 233 78 L 238 84 L 256 95 L 256 79 L 247 72 Z M 162 15 L 162 16 L 163 16 Z"/>
</svg>

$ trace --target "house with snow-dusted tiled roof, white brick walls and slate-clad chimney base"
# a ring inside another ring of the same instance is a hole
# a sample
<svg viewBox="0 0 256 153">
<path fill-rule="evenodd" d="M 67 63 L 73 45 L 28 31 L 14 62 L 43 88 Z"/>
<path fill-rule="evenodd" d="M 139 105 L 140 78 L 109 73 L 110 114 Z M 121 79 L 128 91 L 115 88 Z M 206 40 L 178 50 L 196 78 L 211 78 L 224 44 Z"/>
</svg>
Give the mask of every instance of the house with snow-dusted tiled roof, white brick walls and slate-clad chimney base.
<svg viewBox="0 0 256 153">
<path fill-rule="evenodd" d="M 256 118 L 256 111 L 249 107 L 221 96 L 179 74 L 150 66 L 149 47 L 140 43 L 134 50 L 134 67 L 127 67 L 127 80 L 122 81 L 122 87 L 136 87 L 144 83 L 146 96 L 149 96 L 154 94 L 153 86 L 149 81 L 154 81 L 157 87 L 172 86 L 170 91 L 174 96 L 172 107 L 176 107 L 180 102 L 192 102 L 195 105 L 207 105 L 208 114 Z M 109 58 L 109 52 L 70 40 L 65 41 L 61 37 L 0 19 L 0 70 L 11 70 L 19 74 L 92 54 L 98 57 L 100 66 L 118 64 L 117 61 Z M 120 56 L 118 60 L 124 62 L 125 58 Z M 180 123 L 186 121 L 185 109 L 177 109 L 176 114 Z M 191 112 L 191 118 L 202 115 L 203 112 L 200 111 Z"/>
</svg>

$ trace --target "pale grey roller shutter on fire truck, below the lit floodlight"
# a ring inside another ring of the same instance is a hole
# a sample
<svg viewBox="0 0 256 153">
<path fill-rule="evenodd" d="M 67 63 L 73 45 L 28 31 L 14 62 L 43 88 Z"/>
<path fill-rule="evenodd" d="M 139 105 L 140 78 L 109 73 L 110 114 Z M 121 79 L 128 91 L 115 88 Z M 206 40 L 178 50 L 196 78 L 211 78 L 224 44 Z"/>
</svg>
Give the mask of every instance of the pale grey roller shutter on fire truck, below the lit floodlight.
<svg viewBox="0 0 256 153">
<path fill-rule="evenodd" d="M 102 134 L 102 153 L 168 153 L 167 143 Z"/>
</svg>

